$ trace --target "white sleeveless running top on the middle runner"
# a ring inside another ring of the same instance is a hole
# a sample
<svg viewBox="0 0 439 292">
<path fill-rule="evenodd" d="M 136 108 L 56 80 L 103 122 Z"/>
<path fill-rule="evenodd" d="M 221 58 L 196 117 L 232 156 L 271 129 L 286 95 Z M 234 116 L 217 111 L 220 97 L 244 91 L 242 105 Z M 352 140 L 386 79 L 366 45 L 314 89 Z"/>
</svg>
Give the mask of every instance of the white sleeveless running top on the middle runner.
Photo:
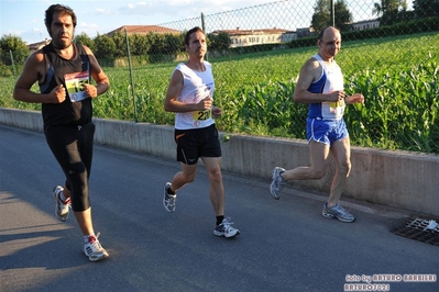
<svg viewBox="0 0 439 292">
<path fill-rule="evenodd" d="M 195 71 L 180 63 L 174 69 L 183 75 L 183 88 L 177 100 L 184 103 L 198 103 L 210 94 L 213 99 L 215 81 L 210 63 L 204 61 L 206 70 Z M 173 72 L 174 74 L 174 72 Z M 207 111 L 195 111 L 187 113 L 177 113 L 175 116 L 175 128 L 190 130 L 208 127 L 213 124 L 211 109 Z"/>
</svg>

